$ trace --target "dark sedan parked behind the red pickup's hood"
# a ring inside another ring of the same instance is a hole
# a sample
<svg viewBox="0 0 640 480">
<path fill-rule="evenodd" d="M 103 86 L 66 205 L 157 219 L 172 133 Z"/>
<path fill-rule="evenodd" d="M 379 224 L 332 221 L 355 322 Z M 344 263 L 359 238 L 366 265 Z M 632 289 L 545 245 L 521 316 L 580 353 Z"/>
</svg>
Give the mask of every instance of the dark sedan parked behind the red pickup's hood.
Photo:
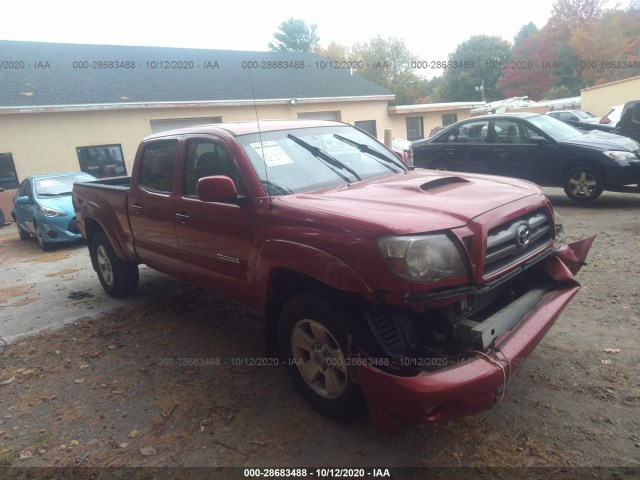
<svg viewBox="0 0 640 480">
<path fill-rule="evenodd" d="M 487 173 L 561 186 L 593 201 L 603 190 L 640 192 L 640 143 L 581 132 L 549 115 L 511 113 L 455 123 L 413 143 L 416 167 Z"/>
</svg>

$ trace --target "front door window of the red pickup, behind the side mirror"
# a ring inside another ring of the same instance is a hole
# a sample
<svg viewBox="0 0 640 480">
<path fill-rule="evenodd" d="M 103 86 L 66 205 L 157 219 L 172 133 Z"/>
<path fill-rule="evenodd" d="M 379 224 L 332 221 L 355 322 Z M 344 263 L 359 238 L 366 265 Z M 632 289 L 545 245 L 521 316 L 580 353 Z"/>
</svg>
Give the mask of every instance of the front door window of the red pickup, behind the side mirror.
<svg viewBox="0 0 640 480">
<path fill-rule="evenodd" d="M 211 140 L 190 140 L 184 162 L 184 195 L 195 197 L 196 185 L 202 177 L 224 175 L 236 184 L 238 194 L 245 193 L 242 180 L 233 158 L 227 149 Z"/>
</svg>

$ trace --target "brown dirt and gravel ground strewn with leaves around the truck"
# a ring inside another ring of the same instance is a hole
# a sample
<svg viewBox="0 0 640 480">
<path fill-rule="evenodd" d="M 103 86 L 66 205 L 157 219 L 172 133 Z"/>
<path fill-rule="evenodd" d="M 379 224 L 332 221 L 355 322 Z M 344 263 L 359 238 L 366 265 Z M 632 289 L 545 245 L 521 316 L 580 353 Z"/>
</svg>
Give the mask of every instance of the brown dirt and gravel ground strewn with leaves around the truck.
<svg viewBox="0 0 640 480">
<path fill-rule="evenodd" d="M 597 235 L 582 290 L 492 410 L 396 436 L 366 414 L 323 418 L 284 367 L 236 365 L 264 352 L 243 307 L 148 269 L 116 301 L 84 245 L 44 253 L 0 229 L 0 467 L 545 466 L 567 478 L 630 467 L 606 478 L 637 478 L 640 195 L 580 206 L 547 193 L 567 240 Z M 482 478 L 509 478 L 495 472 Z"/>
</svg>

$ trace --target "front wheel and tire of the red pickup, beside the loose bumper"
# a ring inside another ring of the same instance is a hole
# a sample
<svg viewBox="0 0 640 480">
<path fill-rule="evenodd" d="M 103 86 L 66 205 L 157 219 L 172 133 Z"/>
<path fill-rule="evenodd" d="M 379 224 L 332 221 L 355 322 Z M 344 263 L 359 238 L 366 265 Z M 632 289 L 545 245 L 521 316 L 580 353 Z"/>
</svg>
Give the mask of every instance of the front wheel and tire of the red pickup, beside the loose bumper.
<svg viewBox="0 0 640 480">
<path fill-rule="evenodd" d="M 347 367 L 348 326 L 341 309 L 306 294 L 285 303 L 278 323 L 280 354 L 293 384 L 316 410 L 341 421 L 366 410 Z"/>
</svg>

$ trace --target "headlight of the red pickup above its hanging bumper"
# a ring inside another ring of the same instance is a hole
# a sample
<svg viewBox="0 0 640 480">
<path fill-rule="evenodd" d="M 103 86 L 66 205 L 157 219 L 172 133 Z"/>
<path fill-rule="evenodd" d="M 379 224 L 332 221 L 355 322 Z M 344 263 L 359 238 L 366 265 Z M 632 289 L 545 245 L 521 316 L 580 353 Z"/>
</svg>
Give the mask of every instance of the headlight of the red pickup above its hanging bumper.
<svg viewBox="0 0 640 480">
<path fill-rule="evenodd" d="M 445 234 L 381 237 L 378 247 L 391 269 L 401 277 L 435 282 L 467 274 L 462 253 Z"/>
</svg>

